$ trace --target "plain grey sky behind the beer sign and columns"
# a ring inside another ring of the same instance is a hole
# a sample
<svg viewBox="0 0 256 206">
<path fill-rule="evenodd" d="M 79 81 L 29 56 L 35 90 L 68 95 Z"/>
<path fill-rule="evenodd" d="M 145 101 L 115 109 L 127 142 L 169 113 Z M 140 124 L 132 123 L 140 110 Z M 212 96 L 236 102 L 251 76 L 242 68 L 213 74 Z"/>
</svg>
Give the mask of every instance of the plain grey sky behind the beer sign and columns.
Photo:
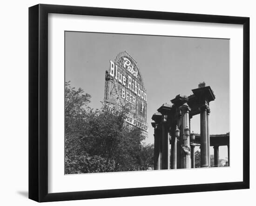
<svg viewBox="0 0 256 206">
<path fill-rule="evenodd" d="M 189 96 L 203 81 L 216 95 L 210 102 L 210 134 L 229 132 L 229 40 L 65 32 L 65 80 L 92 96 L 90 107 L 101 108 L 109 60 L 123 51 L 138 62 L 147 90 L 146 143 L 154 143 L 151 117 L 157 109 L 178 94 Z M 200 133 L 200 115 L 191 119 L 192 131 Z M 219 155 L 228 156 L 227 146 L 220 146 Z"/>
</svg>

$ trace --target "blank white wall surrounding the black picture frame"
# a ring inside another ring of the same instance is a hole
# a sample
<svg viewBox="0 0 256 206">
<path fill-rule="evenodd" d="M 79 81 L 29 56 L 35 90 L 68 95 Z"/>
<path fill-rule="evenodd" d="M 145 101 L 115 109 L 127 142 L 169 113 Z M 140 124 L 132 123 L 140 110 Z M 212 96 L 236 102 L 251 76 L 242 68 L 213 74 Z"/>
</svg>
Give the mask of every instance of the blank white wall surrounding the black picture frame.
<svg viewBox="0 0 256 206">
<path fill-rule="evenodd" d="M 253 36 L 256 35 L 256 13 L 253 1 L 139 1 L 139 0 L 24 0 L 2 1 L 0 12 L 0 204 L 8 205 L 37 205 L 27 198 L 28 193 L 28 7 L 38 3 L 62 4 L 90 7 L 113 7 L 140 10 L 155 10 L 182 13 L 204 13 L 231 16 L 250 17 L 250 58 L 251 58 L 251 105 L 256 94 L 252 71 L 256 56 L 256 44 Z M 251 117 L 255 113 L 251 107 Z M 250 127 L 256 123 L 251 118 Z M 252 145 L 256 143 L 251 134 Z M 169 195 L 152 195 L 141 197 L 76 200 L 66 202 L 45 203 L 44 205 L 180 205 L 216 206 L 216 205 L 243 205 L 255 201 L 256 172 L 251 152 L 251 188 L 248 190 L 233 190 L 204 193 L 185 193 Z M 252 204 L 250 204 L 252 205 Z"/>
</svg>

